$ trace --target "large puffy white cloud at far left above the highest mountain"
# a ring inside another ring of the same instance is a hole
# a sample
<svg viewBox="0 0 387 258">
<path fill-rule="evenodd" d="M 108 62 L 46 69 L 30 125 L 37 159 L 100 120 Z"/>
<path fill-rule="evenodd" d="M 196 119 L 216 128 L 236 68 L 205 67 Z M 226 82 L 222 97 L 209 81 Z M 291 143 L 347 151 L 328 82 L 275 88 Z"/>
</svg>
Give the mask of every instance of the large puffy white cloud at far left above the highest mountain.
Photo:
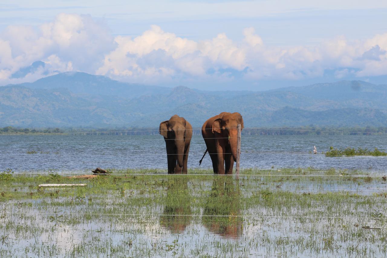
<svg viewBox="0 0 387 258">
<path fill-rule="evenodd" d="M 104 55 L 114 48 L 114 38 L 106 26 L 89 15 L 59 14 L 39 28 L 9 26 L 0 34 L 0 80 L 37 60 L 49 64 L 46 68 L 50 71 L 94 73 Z M 36 72 L 47 75 L 47 70 Z"/>
</svg>

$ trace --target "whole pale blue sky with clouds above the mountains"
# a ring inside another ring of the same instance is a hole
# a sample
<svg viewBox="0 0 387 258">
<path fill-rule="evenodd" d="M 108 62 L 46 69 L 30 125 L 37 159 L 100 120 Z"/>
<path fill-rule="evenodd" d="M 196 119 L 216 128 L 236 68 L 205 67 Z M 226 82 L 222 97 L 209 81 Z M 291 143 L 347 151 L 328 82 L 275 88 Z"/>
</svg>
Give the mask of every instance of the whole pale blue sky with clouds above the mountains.
<svg viewBox="0 0 387 258">
<path fill-rule="evenodd" d="M 207 90 L 387 84 L 387 1 L 2 0 L 0 85 L 67 71 Z"/>
</svg>

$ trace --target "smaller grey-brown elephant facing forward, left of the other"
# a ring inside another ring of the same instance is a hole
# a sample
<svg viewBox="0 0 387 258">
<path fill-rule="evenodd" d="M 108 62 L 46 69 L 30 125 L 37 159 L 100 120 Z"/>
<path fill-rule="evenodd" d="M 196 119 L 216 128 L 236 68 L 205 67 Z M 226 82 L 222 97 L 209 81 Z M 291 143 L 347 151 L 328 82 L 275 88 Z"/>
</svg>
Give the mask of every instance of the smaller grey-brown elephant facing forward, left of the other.
<svg viewBox="0 0 387 258">
<path fill-rule="evenodd" d="M 183 117 L 174 115 L 160 123 L 159 133 L 164 136 L 168 156 L 168 174 L 187 174 L 188 151 L 192 126 Z"/>
</svg>

